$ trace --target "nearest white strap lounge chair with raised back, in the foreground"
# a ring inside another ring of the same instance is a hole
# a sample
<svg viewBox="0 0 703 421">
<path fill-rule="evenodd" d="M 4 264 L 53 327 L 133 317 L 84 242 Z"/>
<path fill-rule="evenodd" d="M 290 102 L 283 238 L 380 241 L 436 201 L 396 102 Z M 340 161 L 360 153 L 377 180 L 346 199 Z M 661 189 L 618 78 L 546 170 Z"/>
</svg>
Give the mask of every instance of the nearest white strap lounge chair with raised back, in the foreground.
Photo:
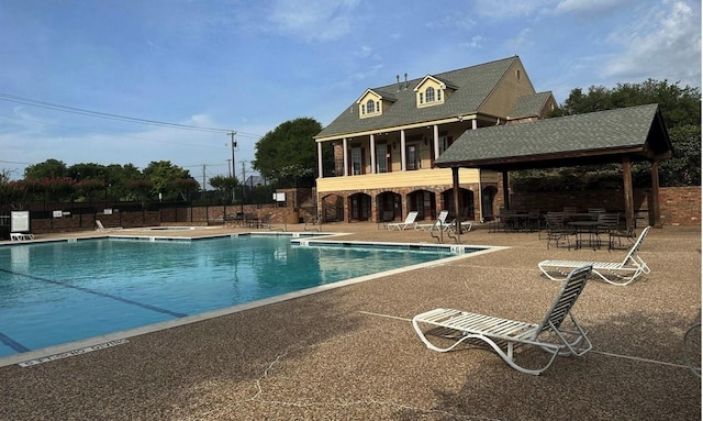
<svg viewBox="0 0 703 421">
<path fill-rule="evenodd" d="M 467 311 L 435 309 L 413 318 L 412 323 L 420 339 L 428 348 L 447 352 L 467 340 L 480 340 L 490 345 L 507 365 L 514 369 L 532 375 L 539 375 L 554 363 L 557 355 L 581 356 L 592 347 L 587 333 L 571 313 L 571 308 L 583 290 L 591 273 L 590 266 L 577 268 L 569 274 L 561 290 L 540 323 L 528 323 L 509 319 L 500 319 Z M 570 319 L 570 326 L 562 322 Z M 434 328 L 423 332 L 420 325 Z M 448 347 L 434 345 L 427 335 L 440 336 L 454 341 Z M 527 368 L 515 362 L 514 350 L 518 345 L 532 345 L 550 354 L 547 363 L 540 368 Z"/>
</svg>

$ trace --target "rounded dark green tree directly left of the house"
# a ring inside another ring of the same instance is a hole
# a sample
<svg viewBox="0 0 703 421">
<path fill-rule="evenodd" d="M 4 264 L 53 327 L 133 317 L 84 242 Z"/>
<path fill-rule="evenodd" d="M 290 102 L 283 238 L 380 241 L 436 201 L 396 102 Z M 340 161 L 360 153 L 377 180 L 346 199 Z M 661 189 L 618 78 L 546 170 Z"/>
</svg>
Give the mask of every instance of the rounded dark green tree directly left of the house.
<svg viewBox="0 0 703 421">
<path fill-rule="evenodd" d="M 312 187 L 317 176 L 313 136 L 321 131 L 322 124 L 311 118 L 283 122 L 256 143 L 252 166 L 278 187 Z"/>
</svg>

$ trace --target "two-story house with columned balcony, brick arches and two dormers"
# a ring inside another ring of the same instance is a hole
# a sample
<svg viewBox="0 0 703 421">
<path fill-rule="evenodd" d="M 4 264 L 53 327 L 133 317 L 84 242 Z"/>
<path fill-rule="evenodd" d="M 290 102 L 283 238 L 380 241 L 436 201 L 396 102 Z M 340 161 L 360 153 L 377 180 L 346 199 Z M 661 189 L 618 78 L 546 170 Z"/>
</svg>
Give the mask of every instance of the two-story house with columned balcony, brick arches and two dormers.
<svg viewBox="0 0 703 421">
<path fill-rule="evenodd" d="M 397 76 L 367 89 L 315 136 L 319 213 L 376 222 L 409 211 L 421 219 L 454 213 L 451 169 L 434 167 L 454 140 L 467 130 L 542 119 L 555 107 L 551 92 L 535 91 L 517 56 L 412 80 Z M 330 145 L 334 165 L 323 160 Z M 461 168 L 460 180 L 458 217 L 492 217 L 501 176 Z"/>
</svg>

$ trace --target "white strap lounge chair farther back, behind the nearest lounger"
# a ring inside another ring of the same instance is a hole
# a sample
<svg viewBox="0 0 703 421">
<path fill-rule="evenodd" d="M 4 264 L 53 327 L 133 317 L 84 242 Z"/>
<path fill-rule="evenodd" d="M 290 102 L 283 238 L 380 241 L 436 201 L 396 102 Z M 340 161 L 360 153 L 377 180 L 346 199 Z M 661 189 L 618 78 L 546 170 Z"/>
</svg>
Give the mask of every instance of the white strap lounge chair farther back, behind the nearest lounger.
<svg viewBox="0 0 703 421">
<path fill-rule="evenodd" d="M 543 261 L 537 264 L 539 270 L 551 280 L 563 280 L 568 270 L 584 265 L 593 266 L 593 275 L 598 275 L 604 281 L 625 286 L 637 279 L 643 274 L 649 274 L 650 269 L 645 261 L 637 255 L 650 226 L 645 228 L 639 237 L 622 262 L 589 262 L 589 261 Z"/>
</svg>

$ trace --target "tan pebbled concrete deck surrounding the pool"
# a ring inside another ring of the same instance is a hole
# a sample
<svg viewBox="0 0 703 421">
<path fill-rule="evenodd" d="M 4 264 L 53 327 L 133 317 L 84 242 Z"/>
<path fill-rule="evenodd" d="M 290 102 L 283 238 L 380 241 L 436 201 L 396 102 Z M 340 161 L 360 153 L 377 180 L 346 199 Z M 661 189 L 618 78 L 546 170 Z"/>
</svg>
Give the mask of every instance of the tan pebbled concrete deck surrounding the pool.
<svg viewBox="0 0 703 421">
<path fill-rule="evenodd" d="M 349 241 L 436 243 L 424 231 L 389 232 L 372 223 L 322 229 L 349 233 L 341 237 Z M 103 233 L 36 237 L 96 234 Z M 701 379 L 683 354 L 683 334 L 700 320 L 700 226 L 650 230 L 640 255 L 652 272 L 644 279 L 627 287 L 590 281 L 574 313 L 593 350 L 581 358 L 557 358 L 539 377 L 517 373 L 486 348 L 432 352 L 410 319 L 449 307 L 537 322 L 558 288 L 539 275 L 537 262 L 617 261 L 625 252 L 547 250 L 536 232 L 489 233 L 486 225 L 461 240 L 510 248 L 32 367 L 0 367 L 0 419 L 701 419 Z"/>
</svg>

